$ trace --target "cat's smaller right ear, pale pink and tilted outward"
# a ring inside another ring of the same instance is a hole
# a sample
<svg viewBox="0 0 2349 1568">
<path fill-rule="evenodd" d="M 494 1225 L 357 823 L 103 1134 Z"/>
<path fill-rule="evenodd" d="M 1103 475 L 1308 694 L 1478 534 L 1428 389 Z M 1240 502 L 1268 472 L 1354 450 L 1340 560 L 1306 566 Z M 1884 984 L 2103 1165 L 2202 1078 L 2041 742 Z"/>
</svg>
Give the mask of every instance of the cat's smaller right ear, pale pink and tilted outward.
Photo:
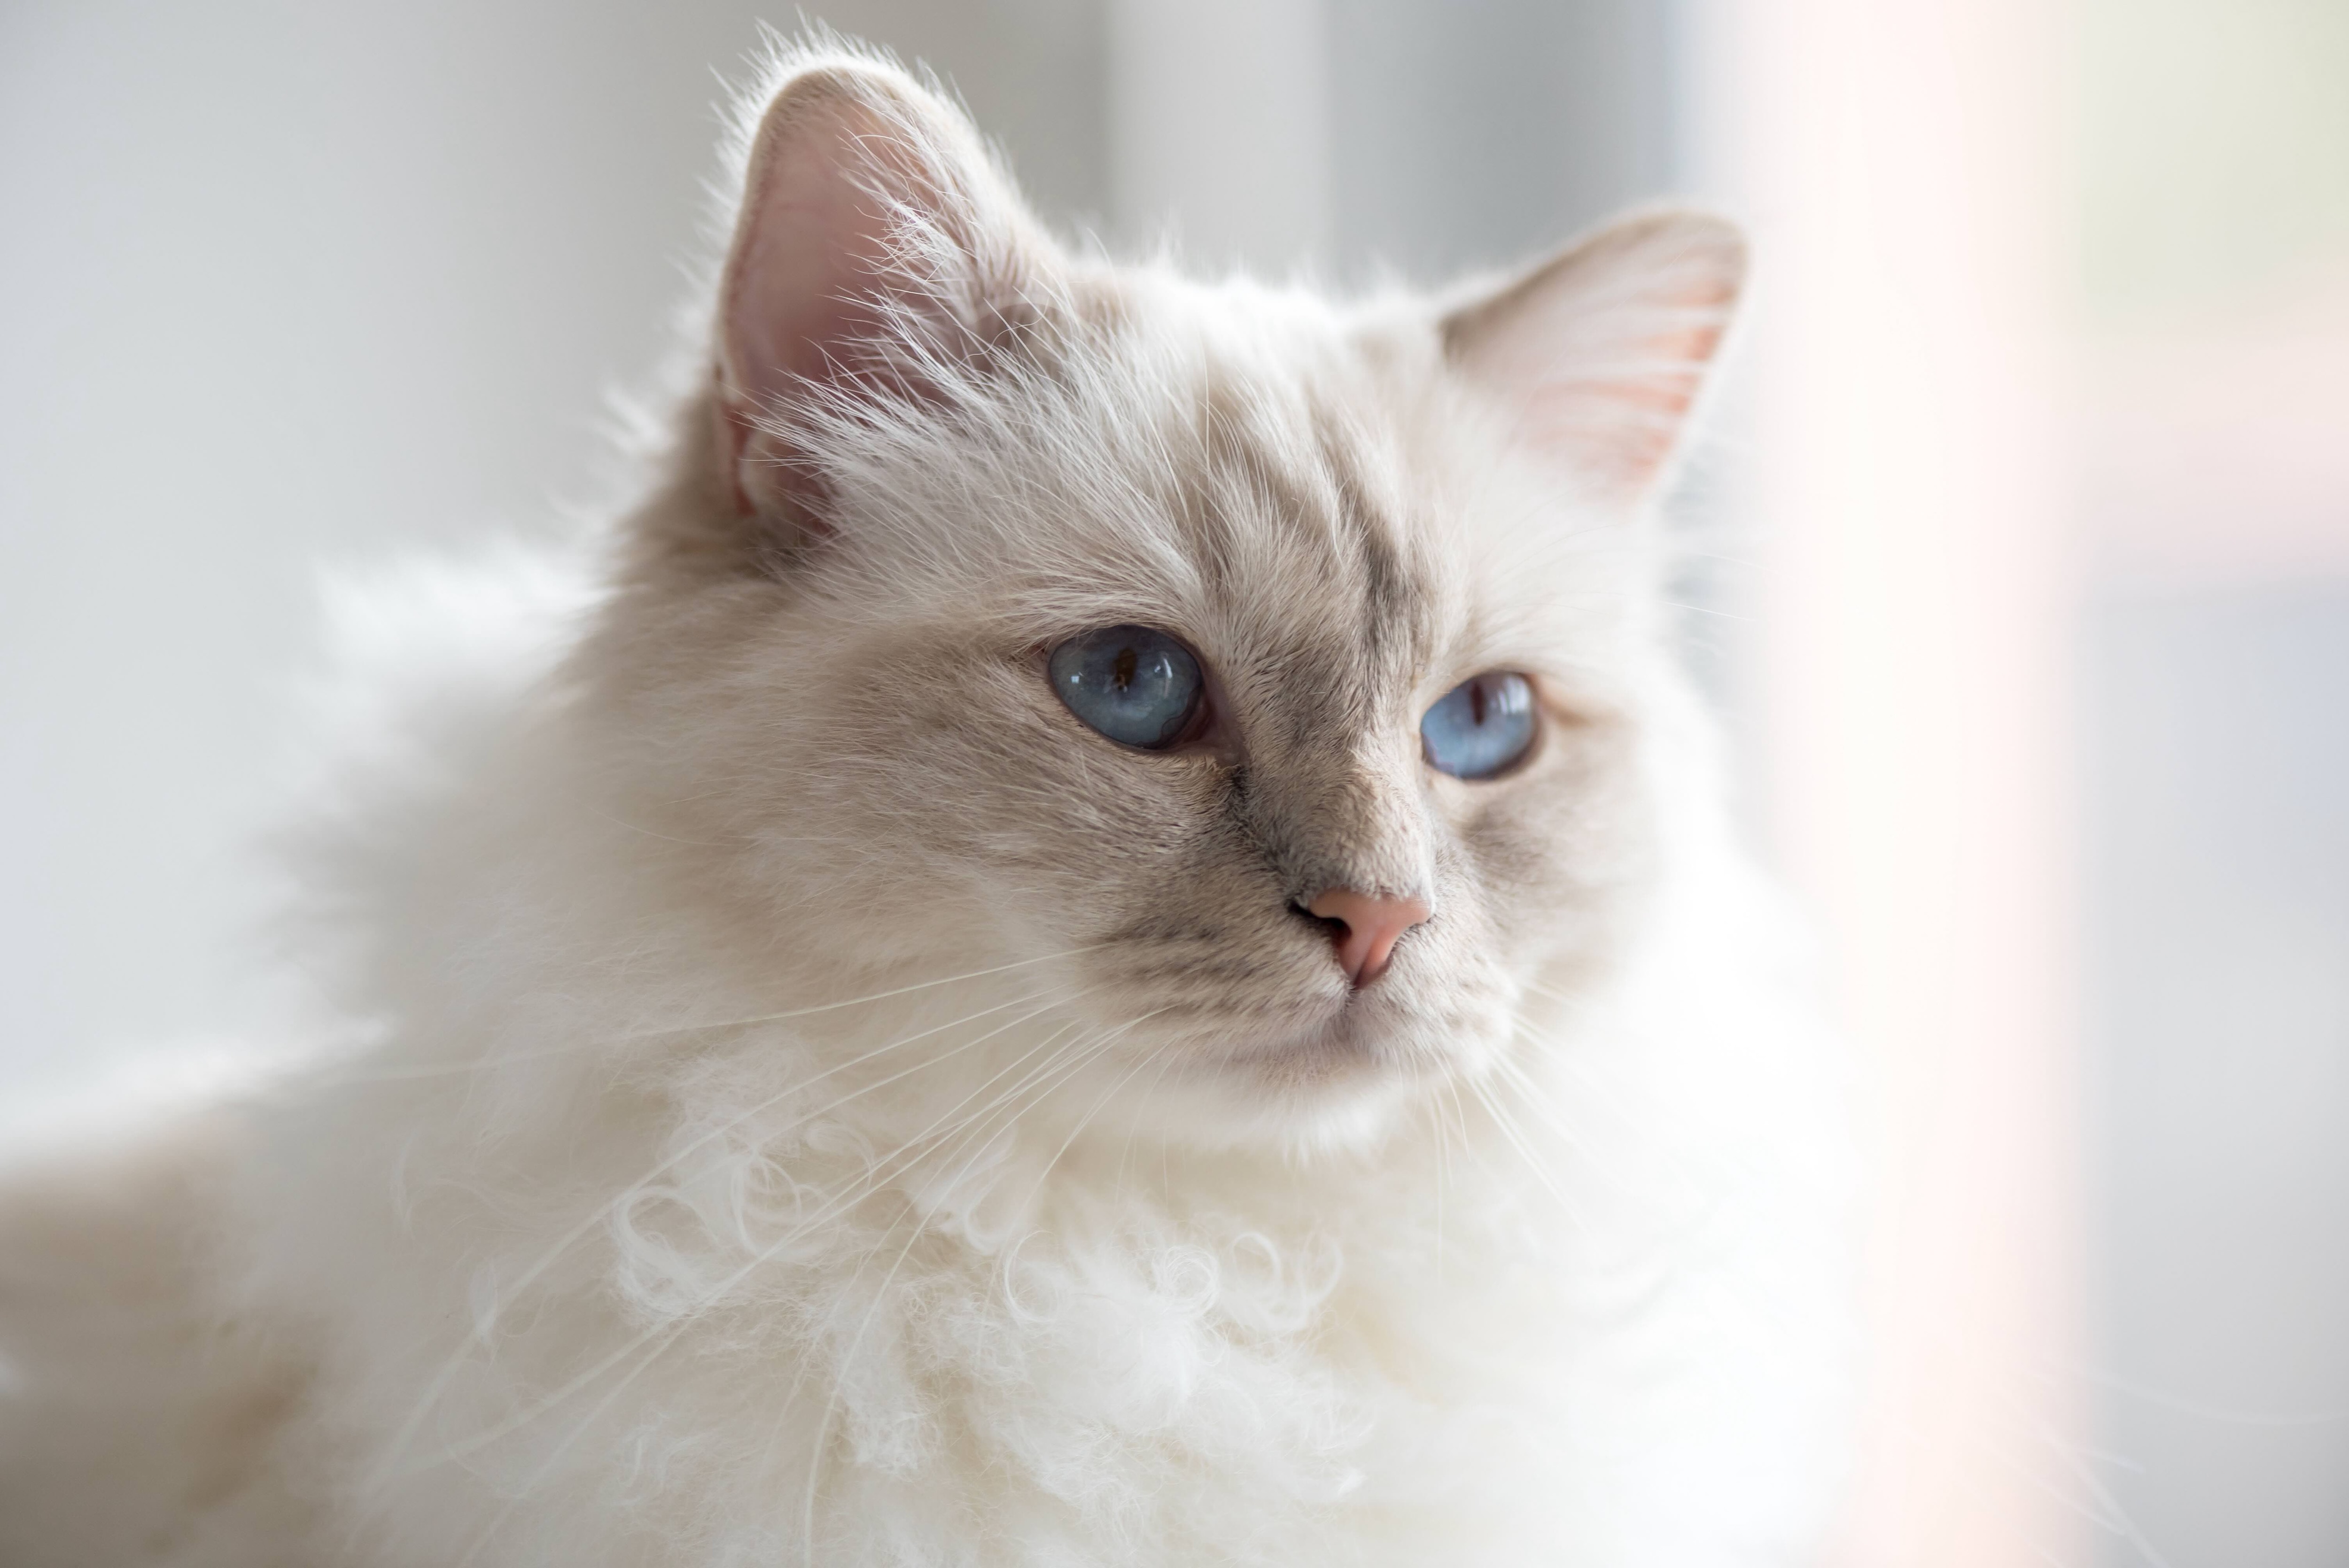
<svg viewBox="0 0 2349 1568">
<path fill-rule="evenodd" d="M 1731 223 L 1640 214 L 1454 307 L 1445 354 L 1536 453 L 1626 500 L 1670 462 L 1743 284 Z"/>
</svg>

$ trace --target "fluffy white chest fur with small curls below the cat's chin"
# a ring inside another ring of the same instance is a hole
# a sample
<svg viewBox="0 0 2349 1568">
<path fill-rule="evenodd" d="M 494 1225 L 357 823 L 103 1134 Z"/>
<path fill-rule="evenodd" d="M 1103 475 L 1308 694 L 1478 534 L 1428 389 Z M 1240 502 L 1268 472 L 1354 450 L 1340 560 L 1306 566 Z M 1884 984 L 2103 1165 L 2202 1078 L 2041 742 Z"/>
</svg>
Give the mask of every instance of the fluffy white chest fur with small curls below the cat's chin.
<svg viewBox="0 0 2349 1568">
<path fill-rule="evenodd" d="M 1830 1204 L 1764 1150 L 1816 1108 L 1769 1082 L 1806 1026 L 1727 960 L 1736 901 L 1701 906 L 1658 913 L 1555 1070 L 1318 1155 L 1137 1131 L 1118 1073 L 1057 1120 L 1005 1115 L 1071 1056 L 1001 979 L 820 1040 L 688 1035 L 632 1077 L 608 1040 L 641 1028 L 653 958 L 585 965 L 550 1012 L 491 1009 L 507 1033 L 395 1040 L 280 1115 L 303 1181 L 268 1188 L 263 1293 L 324 1331 L 287 1458 L 402 1566 L 1506 1568 L 1731 1561 L 1757 1519 L 1792 1540 L 1832 1394 L 1771 1380 L 1823 1376 L 1832 1343 L 1773 1319 L 1823 1303 Z M 1741 1059 L 1708 1045 L 1722 1023 Z M 1776 1502 L 1682 1507 L 1757 1441 Z"/>
</svg>

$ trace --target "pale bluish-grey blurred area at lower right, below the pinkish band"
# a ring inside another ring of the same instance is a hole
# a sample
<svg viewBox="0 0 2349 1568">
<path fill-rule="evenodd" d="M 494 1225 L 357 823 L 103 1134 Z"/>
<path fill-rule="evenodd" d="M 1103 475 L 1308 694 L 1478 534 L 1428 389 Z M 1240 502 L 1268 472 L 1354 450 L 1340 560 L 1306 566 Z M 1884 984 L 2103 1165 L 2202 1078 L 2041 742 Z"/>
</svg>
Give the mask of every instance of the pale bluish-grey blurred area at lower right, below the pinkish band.
<svg viewBox="0 0 2349 1568">
<path fill-rule="evenodd" d="M 2098 1561 L 2335 1568 L 2349 573 L 2105 594 L 2084 646 Z"/>
</svg>

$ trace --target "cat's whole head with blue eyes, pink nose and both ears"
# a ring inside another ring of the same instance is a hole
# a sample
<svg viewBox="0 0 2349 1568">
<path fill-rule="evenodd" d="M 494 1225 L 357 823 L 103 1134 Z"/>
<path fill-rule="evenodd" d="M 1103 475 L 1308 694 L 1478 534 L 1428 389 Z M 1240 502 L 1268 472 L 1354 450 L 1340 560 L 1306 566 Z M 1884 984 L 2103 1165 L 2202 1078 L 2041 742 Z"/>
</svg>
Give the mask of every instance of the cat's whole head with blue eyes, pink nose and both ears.
<svg viewBox="0 0 2349 1568">
<path fill-rule="evenodd" d="M 1651 873 L 1642 514 L 1741 268 L 1654 214 L 1435 300 L 1203 286 L 787 61 L 597 646 L 677 876 L 801 984 L 1017 965 L 1193 1129 L 1480 1070 Z"/>
</svg>

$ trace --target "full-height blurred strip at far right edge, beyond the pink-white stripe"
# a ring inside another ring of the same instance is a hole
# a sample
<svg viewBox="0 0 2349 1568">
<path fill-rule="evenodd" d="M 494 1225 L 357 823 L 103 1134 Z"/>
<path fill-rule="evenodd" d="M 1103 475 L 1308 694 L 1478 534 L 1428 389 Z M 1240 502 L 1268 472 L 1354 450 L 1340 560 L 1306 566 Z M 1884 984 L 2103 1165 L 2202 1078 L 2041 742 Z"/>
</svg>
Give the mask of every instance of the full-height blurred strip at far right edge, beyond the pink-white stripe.
<svg viewBox="0 0 2349 1568">
<path fill-rule="evenodd" d="M 2349 7 L 2079 0 L 2102 1561 L 2349 1563 Z"/>
</svg>

